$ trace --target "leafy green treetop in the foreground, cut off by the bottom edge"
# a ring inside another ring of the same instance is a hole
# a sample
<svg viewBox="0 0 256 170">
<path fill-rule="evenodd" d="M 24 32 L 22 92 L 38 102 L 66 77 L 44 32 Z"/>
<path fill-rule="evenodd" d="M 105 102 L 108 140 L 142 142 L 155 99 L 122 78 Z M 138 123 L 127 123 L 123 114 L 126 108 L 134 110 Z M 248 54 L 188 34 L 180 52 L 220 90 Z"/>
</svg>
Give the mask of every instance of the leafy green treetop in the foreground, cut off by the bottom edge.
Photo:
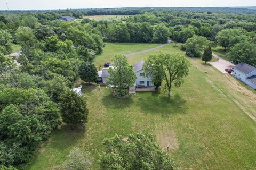
<svg viewBox="0 0 256 170">
<path fill-rule="evenodd" d="M 102 170 L 172 170 L 178 169 L 169 154 L 163 151 L 151 134 L 116 135 L 105 139 L 105 153 L 100 158 Z"/>
</svg>

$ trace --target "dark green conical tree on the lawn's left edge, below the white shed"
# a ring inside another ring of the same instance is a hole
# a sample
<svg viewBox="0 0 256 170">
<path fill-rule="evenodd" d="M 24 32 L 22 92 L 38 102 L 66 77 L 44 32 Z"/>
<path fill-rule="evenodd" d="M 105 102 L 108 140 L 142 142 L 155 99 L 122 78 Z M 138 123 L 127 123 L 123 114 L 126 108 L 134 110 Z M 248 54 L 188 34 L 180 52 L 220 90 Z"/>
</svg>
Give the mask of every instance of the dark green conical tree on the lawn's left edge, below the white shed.
<svg viewBox="0 0 256 170">
<path fill-rule="evenodd" d="M 67 90 L 61 96 L 60 113 L 62 121 L 67 125 L 71 127 L 84 125 L 88 115 L 85 99 L 74 91 Z"/>
</svg>

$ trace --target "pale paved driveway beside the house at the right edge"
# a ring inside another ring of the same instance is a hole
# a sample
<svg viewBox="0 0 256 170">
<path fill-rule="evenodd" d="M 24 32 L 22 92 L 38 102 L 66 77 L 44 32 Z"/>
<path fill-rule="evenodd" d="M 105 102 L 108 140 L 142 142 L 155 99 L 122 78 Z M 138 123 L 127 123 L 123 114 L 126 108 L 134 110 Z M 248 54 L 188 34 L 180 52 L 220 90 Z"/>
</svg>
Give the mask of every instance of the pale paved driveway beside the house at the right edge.
<svg viewBox="0 0 256 170">
<path fill-rule="evenodd" d="M 222 73 L 227 73 L 225 71 L 225 69 L 230 69 L 231 67 L 234 67 L 235 64 L 228 62 L 227 60 L 224 60 L 223 58 L 221 58 L 220 56 L 212 53 L 212 55 L 216 58 L 218 58 L 218 61 L 215 62 L 209 62 L 212 66 L 214 66 L 216 69 L 218 69 L 219 71 L 221 71 Z"/>
</svg>

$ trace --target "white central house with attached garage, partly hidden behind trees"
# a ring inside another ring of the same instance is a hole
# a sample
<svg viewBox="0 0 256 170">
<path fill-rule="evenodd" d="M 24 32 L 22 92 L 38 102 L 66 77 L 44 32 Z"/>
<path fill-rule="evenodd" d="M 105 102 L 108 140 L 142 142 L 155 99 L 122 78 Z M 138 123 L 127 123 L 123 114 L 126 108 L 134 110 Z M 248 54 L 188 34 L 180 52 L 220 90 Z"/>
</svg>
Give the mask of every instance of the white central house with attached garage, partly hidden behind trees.
<svg viewBox="0 0 256 170">
<path fill-rule="evenodd" d="M 144 61 L 140 61 L 138 63 L 135 63 L 133 65 L 134 72 L 137 76 L 137 79 L 134 83 L 134 86 L 143 85 L 145 87 L 154 87 L 154 84 L 152 82 L 151 77 L 146 77 L 144 74 L 143 69 Z M 110 74 L 108 72 L 108 67 L 104 67 L 101 71 L 98 72 L 98 75 L 100 78 L 102 78 L 102 83 L 105 84 L 108 78 L 110 77 Z M 129 75 L 127 75 L 129 76 Z"/>
</svg>

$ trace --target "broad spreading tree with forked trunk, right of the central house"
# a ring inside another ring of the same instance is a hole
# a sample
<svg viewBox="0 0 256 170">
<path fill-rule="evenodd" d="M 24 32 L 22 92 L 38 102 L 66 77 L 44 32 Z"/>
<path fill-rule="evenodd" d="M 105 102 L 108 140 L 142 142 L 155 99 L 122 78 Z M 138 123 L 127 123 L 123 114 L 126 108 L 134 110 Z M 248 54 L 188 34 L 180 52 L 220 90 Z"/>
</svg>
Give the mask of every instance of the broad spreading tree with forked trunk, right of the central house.
<svg viewBox="0 0 256 170">
<path fill-rule="evenodd" d="M 144 70 L 146 75 L 151 75 L 153 81 L 165 80 L 165 89 L 168 97 L 171 97 L 171 89 L 180 87 L 189 72 L 190 61 L 180 54 L 158 53 L 150 55 L 145 61 Z"/>
</svg>

